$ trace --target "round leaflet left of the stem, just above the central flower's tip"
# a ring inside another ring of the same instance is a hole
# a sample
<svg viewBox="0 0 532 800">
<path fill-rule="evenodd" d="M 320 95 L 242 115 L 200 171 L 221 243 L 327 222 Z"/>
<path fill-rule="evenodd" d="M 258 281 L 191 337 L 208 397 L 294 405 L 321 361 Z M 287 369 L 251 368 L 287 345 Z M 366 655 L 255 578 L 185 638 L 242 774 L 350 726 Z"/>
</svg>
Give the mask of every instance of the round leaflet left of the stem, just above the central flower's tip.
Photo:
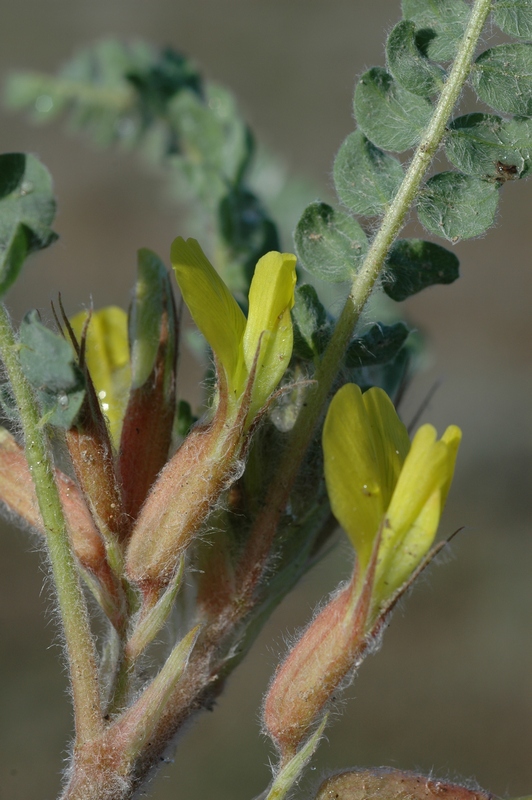
<svg viewBox="0 0 532 800">
<path fill-rule="evenodd" d="M 353 217 L 319 201 L 303 212 L 294 240 L 305 269 L 329 283 L 351 280 L 368 248 L 366 234 Z"/>
</svg>

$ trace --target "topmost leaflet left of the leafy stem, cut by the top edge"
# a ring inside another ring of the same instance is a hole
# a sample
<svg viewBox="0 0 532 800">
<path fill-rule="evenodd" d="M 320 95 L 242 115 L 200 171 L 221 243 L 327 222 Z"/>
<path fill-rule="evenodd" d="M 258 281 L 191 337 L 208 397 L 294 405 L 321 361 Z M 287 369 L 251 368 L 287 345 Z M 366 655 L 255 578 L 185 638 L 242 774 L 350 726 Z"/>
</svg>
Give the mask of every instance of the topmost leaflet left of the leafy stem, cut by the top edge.
<svg viewBox="0 0 532 800">
<path fill-rule="evenodd" d="M 403 0 L 403 17 L 419 29 L 418 47 L 432 61 L 451 61 L 462 39 L 470 8 L 464 0 Z"/>
</svg>

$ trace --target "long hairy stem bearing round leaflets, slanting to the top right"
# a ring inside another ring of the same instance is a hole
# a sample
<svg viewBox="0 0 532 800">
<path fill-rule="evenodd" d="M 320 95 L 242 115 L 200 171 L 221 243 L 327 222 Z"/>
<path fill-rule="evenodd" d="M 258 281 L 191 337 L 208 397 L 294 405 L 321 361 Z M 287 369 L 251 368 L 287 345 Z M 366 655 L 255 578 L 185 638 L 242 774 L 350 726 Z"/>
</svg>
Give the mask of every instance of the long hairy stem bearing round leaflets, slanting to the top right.
<svg viewBox="0 0 532 800">
<path fill-rule="evenodd" d="M 292 428 L 284 458 L 281 459 L 277 476 L 270 486 L 264 510 L 255 521 L 248 550 L 241 562 L 242 578 L 246 584 L 245 593 L 249 594 L 254 590 L 262 574 L 280 516 L 286 507 L 301 462 L 325 408 L 347 345 L 383 269 L 390 247 L 404 224 L 421 181 L 444 136 L 447 120 L 452 114 L 471 69 L 475 48 L 490 8 L 491 0 L 475 0 L 472 6 L 464 37 L 434 114 L 414 153 L 399 191 L 384 215 L 355 277 L 329 345 L 318 364 L 314 376 L 316 383 L 309 389 L 307 402 Z"/>
</svg>

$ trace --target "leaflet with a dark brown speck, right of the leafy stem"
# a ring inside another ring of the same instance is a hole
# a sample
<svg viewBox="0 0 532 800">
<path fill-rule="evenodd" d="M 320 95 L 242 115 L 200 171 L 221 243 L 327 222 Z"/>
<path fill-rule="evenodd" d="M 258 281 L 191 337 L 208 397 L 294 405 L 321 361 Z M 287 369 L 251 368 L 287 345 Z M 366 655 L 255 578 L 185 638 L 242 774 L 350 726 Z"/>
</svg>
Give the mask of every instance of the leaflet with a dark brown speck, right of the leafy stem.
<svg viewBox="0 0 532 800">
<path fill-rule="evenodd" d="M 466 175 L 501 182 L 521 178 L 531 167 L 532 120 L 465 114 L 449 125 L 445 150 Z"/>
</svg>

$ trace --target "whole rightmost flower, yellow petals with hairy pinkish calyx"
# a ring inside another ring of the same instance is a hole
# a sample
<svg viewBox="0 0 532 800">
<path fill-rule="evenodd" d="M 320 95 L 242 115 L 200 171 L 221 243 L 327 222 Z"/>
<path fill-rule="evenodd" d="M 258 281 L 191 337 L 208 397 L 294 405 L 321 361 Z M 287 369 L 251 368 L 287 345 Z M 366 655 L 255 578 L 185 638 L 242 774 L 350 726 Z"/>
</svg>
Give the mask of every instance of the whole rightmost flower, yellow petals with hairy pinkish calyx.
<svg viewBox="0 0 532 800">
<path fill-rule="evenodd" d="M 407 430 L 379 388 L 347 384 L 323 429 L 332 511 L 356 553 L 353 576 L 310 624 L 277 672 L 264 706 L 284 760 L 361 660 L 393 602 L 427 558 L 451 485 L 460 430 L 440 440 Z"/>
</svg>

